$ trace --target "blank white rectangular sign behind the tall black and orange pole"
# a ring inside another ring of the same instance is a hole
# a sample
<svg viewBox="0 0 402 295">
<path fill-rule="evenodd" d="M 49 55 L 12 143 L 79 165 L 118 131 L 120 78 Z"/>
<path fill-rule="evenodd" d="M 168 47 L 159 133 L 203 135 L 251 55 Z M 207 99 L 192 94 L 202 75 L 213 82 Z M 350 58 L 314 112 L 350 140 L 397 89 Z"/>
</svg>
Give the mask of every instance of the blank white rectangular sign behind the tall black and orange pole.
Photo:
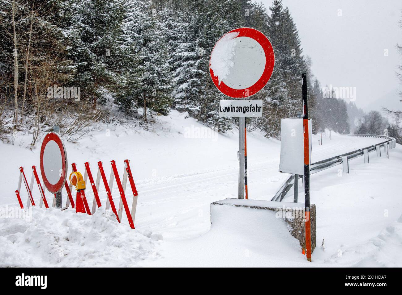
<svg viewBox="0 0 402 295">
<path fill-rule="evenodd" d="M 312 129 L 308 120 L 311 164 Z M 304 175 L 304 128 L 302 118 L 281 119 L 281 160 L 279 172 Z"/>
</svg>

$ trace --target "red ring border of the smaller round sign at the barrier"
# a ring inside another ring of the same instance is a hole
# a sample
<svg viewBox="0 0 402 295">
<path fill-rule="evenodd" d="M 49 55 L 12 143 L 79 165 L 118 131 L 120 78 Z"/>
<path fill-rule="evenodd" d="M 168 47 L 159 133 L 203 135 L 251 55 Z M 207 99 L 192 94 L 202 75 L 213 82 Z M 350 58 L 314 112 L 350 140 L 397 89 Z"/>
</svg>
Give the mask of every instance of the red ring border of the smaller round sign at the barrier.
<svg viewBox="0 0 402 295">
<path fill-rule="evenodd" d="M 49 181 L 46 178 L 45 172 L 43 170 L 43 153 L 45 152 L 45 146 L 47 142 L 49 141 L 55 141 L 57 145 L 59 146 L 60 152 L 62 154 L 62 169 L 63 169 L 63 176 L 60 177 L 59 181 L 57 181 L 56 184 L 50 184 Z M 41 146 L 41 157 L 40 157 L 40 165 L 41 165 L 41 175 L 43 182 L 46 186 L 46 188 L 51 192 L 51 193 L 58 193 L 59 191 L 62 190 L 64 183 L 66 182 L 67 178 L 67 154 L 66 154 L 66 149 L 64 148 L 64 144 L 62 142 L 62 138 L 60 138 L 59 134 L 55 132 L 49 132 L 46 134 L 45 138 L 43 139 L 42 146 Z"/>
</svg>

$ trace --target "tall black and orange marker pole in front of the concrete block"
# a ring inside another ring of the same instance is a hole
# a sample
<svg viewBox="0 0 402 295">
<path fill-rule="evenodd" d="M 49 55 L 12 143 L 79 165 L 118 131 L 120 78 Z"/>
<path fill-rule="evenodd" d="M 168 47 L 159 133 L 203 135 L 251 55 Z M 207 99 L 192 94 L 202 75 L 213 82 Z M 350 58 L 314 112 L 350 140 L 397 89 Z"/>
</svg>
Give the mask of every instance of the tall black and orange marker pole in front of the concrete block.
<svg viewBox="0 0 402 295">
<path fill-rule="evenodd" d="M 307 106 L 307 75 L 301 75 L 301 92 L 303 96 L 303 129 L 304 129 L 304 204 L 306 207 L 306 256 L 311 261 L 311 220 L 310 220 L 310 151 L 308 131 L 308 106 Z"/>
</svg>

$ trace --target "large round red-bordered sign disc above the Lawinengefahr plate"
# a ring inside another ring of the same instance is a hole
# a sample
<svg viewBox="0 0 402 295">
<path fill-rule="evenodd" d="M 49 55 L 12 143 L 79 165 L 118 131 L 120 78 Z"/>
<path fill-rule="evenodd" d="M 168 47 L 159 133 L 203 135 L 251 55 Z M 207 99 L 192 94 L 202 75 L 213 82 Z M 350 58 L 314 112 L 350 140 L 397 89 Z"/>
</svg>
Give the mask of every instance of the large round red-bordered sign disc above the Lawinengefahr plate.
<svg viewBox="0 0 402 295">
<path fill-rule="evenodd" d="M 268 38 L 254 28 L 236 28 L 223 35 L 212 49 L 209 73 L 220 92 L 246 98 L 264 88 L 275 63 Z"/>
</svg>

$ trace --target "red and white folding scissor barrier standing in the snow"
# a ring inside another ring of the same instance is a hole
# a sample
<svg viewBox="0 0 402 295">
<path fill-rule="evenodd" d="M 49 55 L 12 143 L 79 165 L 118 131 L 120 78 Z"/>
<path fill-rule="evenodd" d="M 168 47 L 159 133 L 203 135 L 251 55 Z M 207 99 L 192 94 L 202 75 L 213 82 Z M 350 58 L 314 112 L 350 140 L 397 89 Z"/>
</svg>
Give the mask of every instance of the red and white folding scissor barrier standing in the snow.
<svg viewBox="0 0 402 295">
<path fill-rule="evenodd" d="M 107 201 L 106 201 L 105 209 L 109 209 L 111 207 L 113 213 L 116 215 L 117 221 L 121 222 L 121 216 L 123 214 L 123 208 L 124 208 L 129 225 L 131 228 L 134 228 L 134 220 L 135 220 L 135 212 L 136 212 L 136 208 L 137 208 L 138 192 L 135 187 L 133 175 L 131 173 L 129 160 L 124 160 L 123 178 L 121 180 L 119 177 L 119 173 L 117 172 L 115 160 L 112 160 L 110 163 L 111 163 L 111 172 L 110 172 L 109 182 L 107 182 L 105 171 L 103 169 L 103 163 L 101 161 L 99 161 L 97 163 L 98 164 L 98 173 L 96 175 L 96 181 L 94 181 L 94 178 L 92 176 L 92 172 L 90 170 L 89 163 L 88 162 L 84 163 L 84 166 L 85 166 L 84 181 L 85 181 L 85 183 L 87 183 L 87 179 L 89 179 L 90 185 L 86 185 L 86 186 L 91 187 L 92 191 L 94 193 L 94 199 L 92 201 L 92 211 L 89 209 L 88 201 L 87 201 L 86 195 L 84 193 L 85 190 L 81 190 L 81 191 L 77 192 L 76 202 L 74 204 L 74 199 L 72 197 L 72 184 L 70 183 L 70 185 L 68 185 L 67 181 L 64 183 L 64 187 L 65 187 L 67 195 L 68 195 L 68 198 L 66 201 L 66 208 L 70 207 L 70 204 L 71 204 L 72 208 L 74 208 L 74 205 L 75 205 L 76 212 L 87 213 L 89 215 L 93 215 L 96 212 L 96 208 L 99 208 L 102 206 L 102 204 L 100 202 L 99 193 L 98 193 L 100 180 L 102 179 L 103 184 L 106 189 L 106 194 L 107 194 Z M 71 166 L 72 166 L 72 172 L 77 172 L 76 163 L 72 163 Z M 45 197 L 46 187 L 43 185 L 43 182 L 41 184 L 41 182 L 39 180 L 39 176 L 36 171 L 36 167 L 32 166 L 33 173 L 32 173 L 32 177 L 31 177 L 30 185 L 28 185 L 27 178 L 25 177 L 24 168 L 20 167 L 19 169 L 20 169 L 20 177 L 18 180 L 18 187 L 17 187 L 17 190 L 15 191 L 15 193 L 16 193 L 18 203 L 20 204 L 21 208 L 22 209 L 24 208 L 22 200 L 21 200 L 21 183 L 22 183 L 22 181 L 24 181 L 24 185 L 25 185 L 25 188 L 27 189 L 27 193 L 28 193 L 27 208 L 29 208 L 30 205 L 35 206 L 35 201 L 33 199 L 33 194 L 32 194 L 34 180 L 36 180 L 37 185 L 39 187 L 40 194 L 41 194 L 40 207 L 42 207 L 42 205 L 44 203 L 45 208 L 49 208 L 49 205 L 47 204 L 47 200 Z M 127 203 L 127 199 L 125 197 L 127 178 L 130 183 L 131 191 L 133 192 L 133 203 L 131 204 L 131 212 L 129 209 L 129 205 Z M 120 193 L 118 210 L 116 210 L 115 203 L 114 203 L 113 197 L 112 197 L 112 189 L 113 189 L 114 179 L 116 180 L 117 187 L 118 187 L 119 193 Z M 55 207 L 55 205 L 56 205 L 56 198 L 54 196 L 52 207 Z"/>
</svg>

